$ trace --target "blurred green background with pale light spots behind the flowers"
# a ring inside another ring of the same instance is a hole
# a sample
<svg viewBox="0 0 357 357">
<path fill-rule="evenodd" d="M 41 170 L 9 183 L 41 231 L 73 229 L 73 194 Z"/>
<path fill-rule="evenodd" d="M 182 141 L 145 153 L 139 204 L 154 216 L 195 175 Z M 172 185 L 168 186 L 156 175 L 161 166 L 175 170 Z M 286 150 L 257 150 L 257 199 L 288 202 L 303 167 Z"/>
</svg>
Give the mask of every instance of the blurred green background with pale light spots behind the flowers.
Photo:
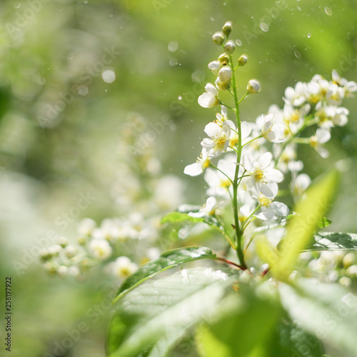
<svg viewBox="0 0 357 357">
<path fill-rule="evenodd" d="M 131 112 L 152 125 L 170 116 L 155 138 L 163 172 L 182 178 L 187 203 L 203 202 L 203 177 L 183 177 L 183 168 L 216 113 L 196 99 L 214 81 L 207 64 L 220 51 L 211 35 L 226 20 L 236 53 L 248 54 L 239 86 L 261 81 L 243 120 L 283 106 L 286 86 L 313 74 L 331 79 L 336 69 L 357 80 L 356 0 L 2 0 L 0 14 L 0 266 L 1 281 L 13 278 L 14 356 L 54 356 L 79 323 L 89 328 L 64 356 L 104 356 L 111 282 L 97 272 L 82 283 L 51 278 L 25 255 L 51 230 L 75 238 L 81 218 L 131 210 L 110 189 L 123 174 L 118 140 Z M 344 104 L 349 122 L 333 131 L 331 157 L 300 154 L 311 177 L 343 160 L 328 218 L 331 230 L 356 232 L 357 103 Z M 87 192 L 96 199 L 61 226 Z"/>
</svg>

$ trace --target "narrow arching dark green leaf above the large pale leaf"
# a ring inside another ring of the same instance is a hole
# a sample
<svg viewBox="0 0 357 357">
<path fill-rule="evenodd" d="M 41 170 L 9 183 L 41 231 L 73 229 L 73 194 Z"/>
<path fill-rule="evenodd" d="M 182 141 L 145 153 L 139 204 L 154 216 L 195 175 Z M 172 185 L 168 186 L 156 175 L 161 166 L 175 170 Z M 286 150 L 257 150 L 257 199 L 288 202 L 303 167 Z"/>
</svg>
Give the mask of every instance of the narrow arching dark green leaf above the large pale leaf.
<svg viewBox="0 0 357 357">
<path fill-rule="evenodd" d="M 165 251 L 154 261 L 141 266 L 134 274 L 126 278 L 124 283 L 118 291 L 116 300 L 124 296 L 139 284 L 146 281 L 146 279 L 155 276 L 161 271 L 179 266 L 188 261 L 198 261 L 199 259 L 214 259 L 216 254 L 213 254 L 210 248 L 203 246 L 187 246 L 185 248 L 172 249 L 171 251 Z"/>
</svg>

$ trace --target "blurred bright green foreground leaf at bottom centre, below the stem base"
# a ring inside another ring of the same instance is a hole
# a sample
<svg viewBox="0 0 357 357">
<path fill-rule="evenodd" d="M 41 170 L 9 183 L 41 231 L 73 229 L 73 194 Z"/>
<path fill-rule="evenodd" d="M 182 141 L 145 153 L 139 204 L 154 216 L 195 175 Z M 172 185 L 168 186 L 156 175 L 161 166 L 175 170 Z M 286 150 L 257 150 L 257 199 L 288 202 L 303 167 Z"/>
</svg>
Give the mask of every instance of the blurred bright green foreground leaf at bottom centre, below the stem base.
<svg viewBox="0 0 357 357">
<path fill-rule="evenodd" d="M 276 326 L 283 314 L 277 296 L 264 296 L 268 288 L 239 287 L 239 296 L 222 301 L 229 306 L 209 330 L 198 331 L 201 357 L 271 357 L 279 356 L 268 348 L 276 339 Z M 286 356 L 286 355 L 285 355 Z"/>
</svg>

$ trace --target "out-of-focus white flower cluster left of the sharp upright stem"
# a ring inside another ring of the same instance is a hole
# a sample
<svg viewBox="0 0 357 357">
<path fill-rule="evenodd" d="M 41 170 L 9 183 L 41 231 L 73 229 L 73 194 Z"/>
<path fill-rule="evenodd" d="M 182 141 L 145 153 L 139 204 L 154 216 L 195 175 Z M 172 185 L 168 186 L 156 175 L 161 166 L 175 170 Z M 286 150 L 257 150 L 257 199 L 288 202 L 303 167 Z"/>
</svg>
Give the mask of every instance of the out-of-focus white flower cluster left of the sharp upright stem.
<svg viewBox="0 0 357 357">
<path fill-rule="evenodd" d="M 120 172 L 111 185 L 119 218 L 105 218 L 100 225 L 91 218 L 82 220 L 76 246 L 64 238 L 41 252 L 47 271 L 83 278 L 92 266 L 104 265 L 124 279 L 166 248 L 167 243 L 161 247 L 160 220 L 183 202 L 183 184 L 174 175 L 161 175 L 154 141 L 139 145 L 147 129 L 144 118 L 130 114 L 119 132 Z"/>
</svg>

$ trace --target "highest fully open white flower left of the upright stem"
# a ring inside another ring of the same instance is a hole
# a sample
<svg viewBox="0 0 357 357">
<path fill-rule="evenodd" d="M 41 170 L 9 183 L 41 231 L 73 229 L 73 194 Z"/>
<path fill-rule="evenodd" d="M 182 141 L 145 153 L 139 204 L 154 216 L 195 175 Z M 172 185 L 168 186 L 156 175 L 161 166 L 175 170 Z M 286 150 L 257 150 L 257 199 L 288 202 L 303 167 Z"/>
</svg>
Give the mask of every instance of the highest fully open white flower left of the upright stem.
<svg viewBox="0 0 357 357">
<path fill-rule="evenodd" d="M 204 128 L 205 133 L 209 138 L 201 141 L 201 146 L 207 149 L 213 156 L 218 156 L 222 151 L 226 151 L 231 136 L 231 127 L 226 121 L 222 126 L 216 123 L 208 123 Z"/>
</svg>

